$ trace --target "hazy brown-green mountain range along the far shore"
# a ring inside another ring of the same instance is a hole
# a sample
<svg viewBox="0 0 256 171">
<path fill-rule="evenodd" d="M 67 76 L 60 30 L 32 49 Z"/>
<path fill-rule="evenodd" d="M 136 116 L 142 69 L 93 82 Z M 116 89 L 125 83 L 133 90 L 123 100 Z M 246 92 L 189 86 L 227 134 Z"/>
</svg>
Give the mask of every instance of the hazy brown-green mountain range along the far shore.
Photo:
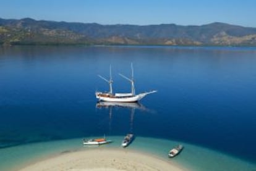
<svg viewBox="0 0 256 171">
<path fill-rule="evenodd" d="M 219 22 L 188 26 L 100 25 L 0 18 L 0 44 L 256 46 L 256 28 Z"/>
</svg>

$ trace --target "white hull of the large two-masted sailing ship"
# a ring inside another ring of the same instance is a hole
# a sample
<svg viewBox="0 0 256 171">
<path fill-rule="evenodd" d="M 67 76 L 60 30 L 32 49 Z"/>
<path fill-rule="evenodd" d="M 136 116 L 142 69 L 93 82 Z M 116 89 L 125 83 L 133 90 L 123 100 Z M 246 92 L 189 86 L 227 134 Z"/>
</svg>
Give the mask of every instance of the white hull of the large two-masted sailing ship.
<svg viewBox="0 0 256 171">
<path fill-rule="evenodd" d="M 155 93 L 156 91 L 150 91 L 148 93 L 141 93 L 135 96 L 101 96 L 100 92 L 96 92 L 96 98 L 99 101 L 109 101 L 109 102 L 137 102 L 144 98 L 147 94 Z"/>
</svg>

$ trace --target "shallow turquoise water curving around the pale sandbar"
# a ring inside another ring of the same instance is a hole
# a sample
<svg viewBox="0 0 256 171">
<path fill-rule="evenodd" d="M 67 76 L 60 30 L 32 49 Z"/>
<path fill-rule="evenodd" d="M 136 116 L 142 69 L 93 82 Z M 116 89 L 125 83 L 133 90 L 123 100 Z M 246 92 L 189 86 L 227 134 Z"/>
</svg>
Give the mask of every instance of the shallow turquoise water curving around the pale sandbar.
<svg viewBox="0 0 256 171">
<path fill-rule="evenodd" d="M 82 138 L 72 140 L 51 141 L 47 143 L 33 143 L 11 148 L 0 149 L 0 170 L 16 170 L 27 164 L 32 164 L 38 160 L 53 157 L 62 152 L 77 151 L 91 148 L 117 148 L 122 149 L 122 136 L 108 136 L 113 140 L 111 144 L 102 146 L 83 146 Z M 179 156 L 173 159 L 168 158 L 169 149 L 176 144 L 183 144 L 184 150 Z M 160 157 L 168 162 L 176 163 L 188 170 L 234 170 L 252 171 L 256 165 L 242 161 L 241 159 L 221 154 L 206 148 L 200 148 L 178 141 L 162 140 L 156 138 L 145 138 L 137 136 L 130 144 L 127 151 L 134 150 L 146 152 Z"/>
</svg>

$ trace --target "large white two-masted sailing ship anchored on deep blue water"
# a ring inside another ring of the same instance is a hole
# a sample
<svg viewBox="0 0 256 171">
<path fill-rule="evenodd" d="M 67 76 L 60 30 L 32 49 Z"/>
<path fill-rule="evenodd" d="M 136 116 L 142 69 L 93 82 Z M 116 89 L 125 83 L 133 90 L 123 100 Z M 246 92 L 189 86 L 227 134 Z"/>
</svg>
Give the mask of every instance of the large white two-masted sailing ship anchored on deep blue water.
<svg viewBox="0 0 256 171">
<path fill-rule="evenodd" d="M 135 94 L 134 68 L 132 67 L 132 64 L 131 64 L 131 69 L 132 69 L 132 78 L 127 78 L 126 76 L 119 73 L 119 75 L 121 77 L 130 81 L 131 88 L 132 88 L 131 93 L 113 93 L 113 88 L 112 88 L 113 79 L 112 79 L 111 66 L 110 66 L 109 80 L 102 77 L 101 75 L 98 75 L 101 79 L 103 79 L 103 80 L 105 80 L 106 82 L 109 83 L 109 92 L 108 93 L 103 93 L 103 92 L 97 91 L 95 93 L 96 98 L 99 99 L 99 101 L 109 101 L 109 102 L 137 102 L 140 99 L 147 96 L 147 94 L 156 93 L 156 90 L 154 90 L 154 91 L 149 91 L 149 92 L 146 92 L 146 93 Z"/>
</svg>

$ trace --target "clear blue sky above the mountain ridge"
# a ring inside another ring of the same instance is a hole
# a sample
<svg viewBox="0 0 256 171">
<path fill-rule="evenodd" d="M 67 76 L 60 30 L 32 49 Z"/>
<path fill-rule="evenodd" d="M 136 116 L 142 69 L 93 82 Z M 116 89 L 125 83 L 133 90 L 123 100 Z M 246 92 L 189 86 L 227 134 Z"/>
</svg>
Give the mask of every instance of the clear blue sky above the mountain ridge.
<svg viewBox="0 0 256 171">
<path fill-rule="evenodd" d="M 256 0 L 1 0 L 0 18 L 101 24 L 203 25 L 225 22 L 256 27 Z"/>
</svg>

